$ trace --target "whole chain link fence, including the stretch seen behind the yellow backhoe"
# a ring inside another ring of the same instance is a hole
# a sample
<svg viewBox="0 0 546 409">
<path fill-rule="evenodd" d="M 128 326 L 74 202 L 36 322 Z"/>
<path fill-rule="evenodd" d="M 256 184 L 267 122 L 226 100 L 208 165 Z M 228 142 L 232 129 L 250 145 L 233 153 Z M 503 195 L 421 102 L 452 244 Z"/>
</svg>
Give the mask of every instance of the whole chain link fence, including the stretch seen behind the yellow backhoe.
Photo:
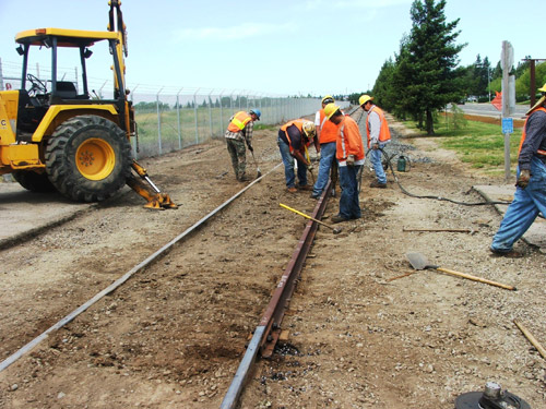
<svg viewBox="0 0 546 409">
<path fill-rule="evenodd" d="M 0 91 L 21 88 L 21 63 L 0 59 Z M 61 81 L 71 81 L 80 93 L 78 68 L 57 68 Z M 50 83 L 47 65 L 29 64 L 28 73 Z M 112 98 L 111 80 L 90 76 L 92 98 Z M 28 85 L 28 82 L 27 82 Z M 151 86 L 131 84 L 129 99 L 135 108 L 138 137 L 132 140 L 133 156 L 139 158 L 163 155 L 183 147 L 222 137 L 229 118 L 237 111 L 260 109 L 257 125 L 281 124 L 288 120 L 310 116 L 320 109 L 320 98 L 277 96 L 247 89 L 211 89 L 194 87 Z M 342 108 L 348 103 L 339 103 Z"/>
</svg>

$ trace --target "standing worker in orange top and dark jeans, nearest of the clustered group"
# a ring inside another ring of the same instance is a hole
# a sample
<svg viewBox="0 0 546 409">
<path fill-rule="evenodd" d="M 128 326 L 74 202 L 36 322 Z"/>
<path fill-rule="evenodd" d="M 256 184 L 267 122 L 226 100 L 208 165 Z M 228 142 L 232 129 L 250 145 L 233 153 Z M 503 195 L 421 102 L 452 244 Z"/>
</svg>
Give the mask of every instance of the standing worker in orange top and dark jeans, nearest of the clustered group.
<svg viewBox="0 0 546 409">
<path fill-rule="evenodd" d="M 324 115 L 340 127 L 336 139 L 337 166 L 340 169 L 340 213 L 332 216 L 333 222 L 359 219 L 361 217 L 358 201 L 357 175 L 364 165 L 364 142 L 356 121 L 344 115 L 335 104 L 324 107 Z"/>
</svg>

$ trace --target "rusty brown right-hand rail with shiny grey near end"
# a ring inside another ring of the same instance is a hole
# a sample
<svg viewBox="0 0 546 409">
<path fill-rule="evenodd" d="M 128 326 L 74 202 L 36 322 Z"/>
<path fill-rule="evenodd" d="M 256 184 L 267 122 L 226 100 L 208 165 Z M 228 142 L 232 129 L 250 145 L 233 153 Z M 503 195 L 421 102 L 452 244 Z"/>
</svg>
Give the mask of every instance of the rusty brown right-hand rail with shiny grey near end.
<svg viewBox="0 0 546 409">
<path fill-rule="evenodd" d="M 317 206 L 312 213 L 312 217 L 320 219 L 327 207 L 327 202 L 330 193 L 331 181 L 322 191 L 322 195 L 318 200 Z M 239 397 L 245 388 L 245 384 L 249 374 L 252 371 L 258 352 L 263 358 L 271 357 L 275 348 L 275 344 L 281 335 L 281 323 L 284 313 L 288 308 L 289 300 L 294 293 L 296 281 L 301 275 L 304 263 L 311 248 L 314 234 L 318 229 L 318 224 L 309 220 L 301 238 L 296 245 L 288 265 L 281 277 L 276 289 L 271 298 L 269 305 L 260 320 L 260 323 L 254 329 L 252 339 L 250 340 L 247 351 L 240 361 L 239 368 L 227 389 L 227 393 L 222 401 L 221 409 L 235 409 Z"/>
</svg>

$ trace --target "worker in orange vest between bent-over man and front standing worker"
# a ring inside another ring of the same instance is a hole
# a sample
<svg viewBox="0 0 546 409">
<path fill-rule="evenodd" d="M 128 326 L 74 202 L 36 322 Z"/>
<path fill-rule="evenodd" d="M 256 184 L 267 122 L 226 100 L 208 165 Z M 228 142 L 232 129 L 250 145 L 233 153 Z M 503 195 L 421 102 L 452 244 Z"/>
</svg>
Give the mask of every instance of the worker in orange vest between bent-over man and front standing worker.
<svg viewBox="0 0 546 409">
<path fill-rule="evenodd" d="M 340 125 L 329 121 L 324 115 L 324 107 L 328 104 L 333 104 L 334 98 L 327 95 L 322 98 L 322 109 L 317 111 L 314 116 L 314 127 L 317 128 L 317 140 L 319 141 L 320 151 L 318 151 L 319 158 L 319 173 L 317 181 L 312 187 L 311 199 L 319 199 L 322 191 L 327 187 L 329 177 L 332 180 L 332 193 L 335 192 L 335 182 L 337 180 L 337 163 L 335 161 L 335 141 L 340 132 Z"/>
</svg>

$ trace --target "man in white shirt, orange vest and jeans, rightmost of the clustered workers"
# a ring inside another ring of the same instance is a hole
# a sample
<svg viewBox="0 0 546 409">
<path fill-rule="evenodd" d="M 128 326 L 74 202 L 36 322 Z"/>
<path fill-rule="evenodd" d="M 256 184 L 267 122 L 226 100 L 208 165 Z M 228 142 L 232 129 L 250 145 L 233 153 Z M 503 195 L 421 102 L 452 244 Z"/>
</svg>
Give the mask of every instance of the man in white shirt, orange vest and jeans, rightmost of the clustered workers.
<svg viewBox="0 0 546 409">
<path fill-rule="evenodd" d="M 384 189 L 387 188 L 387 175 L 384 173 L 383 164 L 381 164 L 381 151 L 390 142 L 391 132 L 389 131 L 389 124 L 383 111 L 372 100 L 373 98 L 369 95 L 363 95 L 358 98 L 358 104 L 368 112 L 366 133 L 368 135 L 368 149 L 371 148 L 371 164 L 373 165 L 377 178 L 370 183 L 370 188 Z"/>
</svg>

